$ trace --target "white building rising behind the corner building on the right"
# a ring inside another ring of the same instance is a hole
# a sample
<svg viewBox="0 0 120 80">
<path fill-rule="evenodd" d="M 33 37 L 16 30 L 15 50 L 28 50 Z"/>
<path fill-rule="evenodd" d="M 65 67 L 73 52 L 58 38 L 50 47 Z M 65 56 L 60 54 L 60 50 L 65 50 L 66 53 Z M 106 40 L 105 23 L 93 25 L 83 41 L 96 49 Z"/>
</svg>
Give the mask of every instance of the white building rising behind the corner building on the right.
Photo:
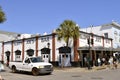
<svg viewBox="0 0 120 80">
<path fill-rule="evenodd" d="M 88 28 L 82 28 L 81 31 L 85 31 L 88 33 L 92 32 L 99 36 L 112 38 L 113 48 L 120 48 L 120 24 L 115 21 L 100 26 L 90 26 Z"/>
</svg>

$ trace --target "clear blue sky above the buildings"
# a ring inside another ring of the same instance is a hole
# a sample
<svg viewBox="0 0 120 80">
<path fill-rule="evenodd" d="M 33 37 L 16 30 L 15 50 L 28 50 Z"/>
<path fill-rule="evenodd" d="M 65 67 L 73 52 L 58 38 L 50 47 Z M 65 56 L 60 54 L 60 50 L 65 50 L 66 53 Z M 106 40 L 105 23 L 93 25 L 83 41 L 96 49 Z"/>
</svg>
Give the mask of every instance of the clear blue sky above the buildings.
<svg viewBox="0 0 120 80">
<path fill-rule="evenodd" d="M 43 34 L 66 19 L 73 20 L 80 28 L 120 23 L 120 0 L 0 0 L 7 20 L 0 30 Z"/>
</svg>

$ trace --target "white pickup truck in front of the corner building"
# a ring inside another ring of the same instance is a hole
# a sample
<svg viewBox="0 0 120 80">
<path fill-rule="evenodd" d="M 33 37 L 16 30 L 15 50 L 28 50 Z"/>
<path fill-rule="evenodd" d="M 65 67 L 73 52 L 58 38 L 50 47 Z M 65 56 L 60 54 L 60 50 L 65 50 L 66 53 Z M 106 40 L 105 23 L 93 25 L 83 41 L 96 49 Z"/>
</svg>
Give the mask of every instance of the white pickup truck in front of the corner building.
<svg viewBox="0 0 120 80">
<path fill-rule="evenodd" d="M 20 61 L 9 62 L 9 67 L 12 72 L 27 71 L 32 72 L 33 75 L 51 74 L 53 72 L 53 65 L 51 63 L 43 62 L 41 57 L 27 57 Z"/>
</svg>

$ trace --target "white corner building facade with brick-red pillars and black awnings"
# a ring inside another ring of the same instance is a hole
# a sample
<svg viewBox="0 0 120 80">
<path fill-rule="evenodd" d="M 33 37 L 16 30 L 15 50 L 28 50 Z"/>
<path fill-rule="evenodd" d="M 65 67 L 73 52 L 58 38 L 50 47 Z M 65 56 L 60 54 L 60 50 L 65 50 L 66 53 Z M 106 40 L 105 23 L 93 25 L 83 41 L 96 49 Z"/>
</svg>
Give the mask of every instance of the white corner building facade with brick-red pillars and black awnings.
<svg viewBox="0 0 120 80">
<path fill-rule="evenodd" d="M 54 66 L 84 67 L 84 57 L 90 55 L 92 65 L 98 57 L 109 56 L 113 51 L 111 38 L 80 31 L 80 38 L 70 39 L 69 47 L 64 40 L 58 41 L 55 33 L 6 41 L 1 44 L 1 61 L 23 61 L 28 56 L 41 56 Z"/>
</svg>

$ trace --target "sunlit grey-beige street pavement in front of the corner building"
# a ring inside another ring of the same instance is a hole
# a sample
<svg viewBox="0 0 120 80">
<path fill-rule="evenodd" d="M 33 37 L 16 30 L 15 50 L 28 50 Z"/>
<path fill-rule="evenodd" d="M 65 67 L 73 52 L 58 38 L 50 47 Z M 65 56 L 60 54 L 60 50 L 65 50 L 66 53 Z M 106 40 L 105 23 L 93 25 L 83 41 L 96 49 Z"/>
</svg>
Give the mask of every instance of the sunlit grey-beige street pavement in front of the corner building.
<svg viewBox="0 0 120 80">
<path fill-rule="evenodd" d="M 51 75 L 33 76 L 31 73 L 12 73 L 8 68 L 0 72 L 4 80 L 119 80 L 120 69 L 81 70 L 62 69 L 54 70 Z"/>
</svg>

